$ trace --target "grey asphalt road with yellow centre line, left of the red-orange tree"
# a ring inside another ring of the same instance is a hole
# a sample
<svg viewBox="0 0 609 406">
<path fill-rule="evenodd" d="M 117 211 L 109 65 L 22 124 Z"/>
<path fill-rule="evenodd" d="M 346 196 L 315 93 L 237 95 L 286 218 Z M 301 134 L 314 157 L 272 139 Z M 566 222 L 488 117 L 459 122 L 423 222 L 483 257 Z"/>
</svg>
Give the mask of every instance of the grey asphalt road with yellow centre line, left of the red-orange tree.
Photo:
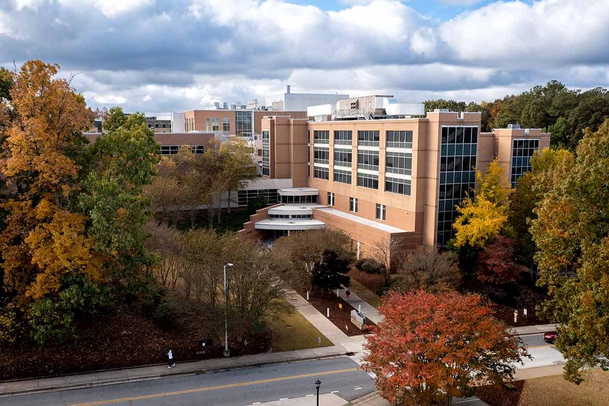
<svg viewBox="0 0 609 406">
<path fill-rule="evenodd" d="M 220 373 L 0 398 L 2 406 L 245 406 L 334 391 L 351 401 L 375 390 L 348 357 L 262 366 Z M 314 405 L 314 396 L 311 397 Z"/>
</svg>

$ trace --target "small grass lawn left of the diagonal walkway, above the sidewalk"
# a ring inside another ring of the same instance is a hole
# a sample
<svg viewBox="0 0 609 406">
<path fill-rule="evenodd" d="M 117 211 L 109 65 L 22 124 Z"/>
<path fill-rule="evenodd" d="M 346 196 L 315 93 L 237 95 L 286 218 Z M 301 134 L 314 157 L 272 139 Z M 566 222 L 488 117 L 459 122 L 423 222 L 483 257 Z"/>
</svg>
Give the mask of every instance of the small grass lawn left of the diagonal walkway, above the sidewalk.
<svg viewBox="0 0 609 406">
<path fill-rule="evenodd" d="M 276 317 L 269 317 L 267 323 L 273 331 L 273 341 L 271 343 L 273 352 L 332 345 L 330 340 L 297 310 L 293 310 L 291 313 L 281 313 Z M 321 344 L 318 343 L 317 337 L 322 338 Z"/>
</svg>

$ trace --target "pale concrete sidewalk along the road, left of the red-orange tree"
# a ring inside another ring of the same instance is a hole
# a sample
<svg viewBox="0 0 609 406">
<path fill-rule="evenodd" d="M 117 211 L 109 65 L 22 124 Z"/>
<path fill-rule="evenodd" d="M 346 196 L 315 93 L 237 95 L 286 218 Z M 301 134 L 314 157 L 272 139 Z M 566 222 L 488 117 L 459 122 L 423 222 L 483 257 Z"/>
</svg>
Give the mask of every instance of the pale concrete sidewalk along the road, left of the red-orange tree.
<svg viewBox="0 0 609 406">
<path fill-rule="evenodd" d="M 244 355 L 242 357 L 220 358 L 177 363 L 174 368 L 163 365 L 146 365 L 135 368 L 94 371 L 84 374 L 73 374 L 38 379 L 21 379 L 0 382 L 0 397 L 16 394 L 48 392 L 67 389 L 79 389 L 115 385 L 117 383 L 141 382 L 144 380 L 166 377 L 210 373 L 226 369 L 238 369 L 248 366 L 289 363 L 305 360 L 322 359 L 345 355 L 343 346 L 330 346 L 297 351 L 270 352 L 269 354 Z"/>
</svg>

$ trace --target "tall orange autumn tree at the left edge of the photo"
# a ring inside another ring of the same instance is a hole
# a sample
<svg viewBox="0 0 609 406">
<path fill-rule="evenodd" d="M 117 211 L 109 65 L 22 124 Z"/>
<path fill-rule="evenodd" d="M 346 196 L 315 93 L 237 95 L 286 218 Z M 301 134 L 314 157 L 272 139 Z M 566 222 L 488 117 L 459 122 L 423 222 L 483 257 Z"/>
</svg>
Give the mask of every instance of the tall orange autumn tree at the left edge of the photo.
<svg viewBox="0 0 609 406">
<path fill-rule="evenodd" d="M 96 113 L 57 65 L 26 62 L 10 91 L 13 119 L 5 128 L 1 170 L 13 194 L 0 236 L 4 287 L 20 306 L 60 289 L 67 273 L 99 277 L 100 258 L 85 236 L 86 217 L 74 212 L 77 162 Z"/>
</svg>

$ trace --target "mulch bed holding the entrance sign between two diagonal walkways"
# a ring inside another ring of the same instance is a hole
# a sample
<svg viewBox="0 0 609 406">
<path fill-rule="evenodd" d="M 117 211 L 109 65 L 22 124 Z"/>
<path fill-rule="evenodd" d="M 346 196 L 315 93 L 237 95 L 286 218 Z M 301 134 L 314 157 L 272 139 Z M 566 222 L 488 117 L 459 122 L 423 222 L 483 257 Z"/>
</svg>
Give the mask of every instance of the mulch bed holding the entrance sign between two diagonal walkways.
<svg viewBox="0 0 609 406">
<path fill-rule="evenodd" d="M 306 299 L 306 292 L 298 293 Z M 337 297 L 336 293 L 323 294 L 321 292 L 309 292 L 309 303 L 324 316 L 326 315 L 326 309 L 329 307 L 330 317 L 328 320 L 331 321 L 334 326 L 339 327 L 343 333 L 349 336 L 368 334 L 367 331 L 361 331 L 355 324 L 351 323 L 351 310 L 357 309 L 347 303 L 343 298 Z M 340 309 L 339 304 L 342 305 L 342 309 Z M 376 324 L 370 321 L 370 319 L 366 319 L 366 326 L 368 328 L 371 326 L 376 327 Z"/>
</svg>

